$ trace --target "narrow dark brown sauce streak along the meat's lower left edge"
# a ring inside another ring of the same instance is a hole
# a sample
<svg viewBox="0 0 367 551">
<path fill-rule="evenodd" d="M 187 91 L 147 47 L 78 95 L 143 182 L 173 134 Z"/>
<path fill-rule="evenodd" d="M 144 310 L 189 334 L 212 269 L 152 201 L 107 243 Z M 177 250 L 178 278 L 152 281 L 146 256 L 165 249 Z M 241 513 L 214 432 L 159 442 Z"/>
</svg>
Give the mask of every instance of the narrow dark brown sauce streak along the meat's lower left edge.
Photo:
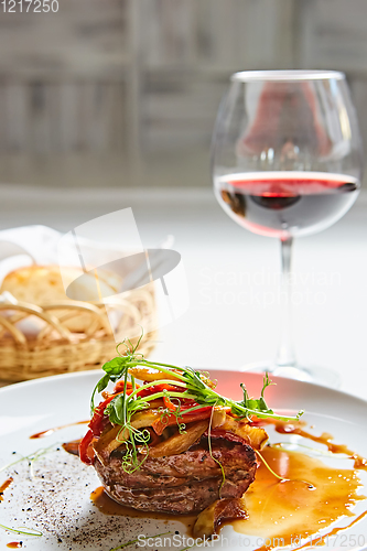
<svg viewBox="0 0 367 551">
<path fill-rule="evenodd" d="M 111 499 L 102 486 L 99 486 L 90 494 L 90 499 L 104 515 L 121 515 L 131 518 L 163 520 L 165 523 L 170 520 L 176 520 L 185 525 L 187 531 L 192 529 L 197 518 L 197 515 L 169 515 L 164 512 L 139 511 L 138 509 L 126 507 Z"/>
</svg>

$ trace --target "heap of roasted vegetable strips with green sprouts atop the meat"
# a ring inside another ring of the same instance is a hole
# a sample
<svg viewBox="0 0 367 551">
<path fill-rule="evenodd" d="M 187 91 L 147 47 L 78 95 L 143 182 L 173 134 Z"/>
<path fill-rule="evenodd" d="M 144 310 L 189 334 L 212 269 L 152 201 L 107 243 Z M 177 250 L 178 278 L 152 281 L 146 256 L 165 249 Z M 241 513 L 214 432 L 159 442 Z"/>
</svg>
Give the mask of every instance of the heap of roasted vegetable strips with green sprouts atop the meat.
<svg viewBox="0 0 367 551">
<path fill-rule="evenodd" d="M 91 449 L 106 462 L 115 450 L 123 446 L 123 467 L 133 472 L 144 461 L 139 455 L 147 457 L 151 453 L 159 457 L 181 453 L 195 442 L 195 434 L 197 440 L 204 433 L 209 440 L 225 437 L 261 450 L 268 436 L 263 429 L 250 424 L 251 417 L 290 420 L 302 414 L 278 415 L 268 408 L 263 398 L 265 389 L 271 385 L 268 375 L 260 398 L 250 398 L 241 385 L 244 399 L 234 401 L 217 393 L 215 382 L 206 374 L 191 367 L 148 361 L 136 350 L 137 347 L 127 346 L 125 356 L 104 365 L 106 375 L 91 397 L 91 435 L 88 433 L 80 445 L 87 463 L 91 461 Z M 138 386 L 136 379 L 143 383 Z M 106 400 L 95 408 L 95 393 L 102 392 L 109 381 L 116 383 L 114 393 L 105 393 Z M 176 433 L 168 436 L 165 432 L 171 426 Z M 151 429 L 161 440 L 152 436 Z"/>
</svg>

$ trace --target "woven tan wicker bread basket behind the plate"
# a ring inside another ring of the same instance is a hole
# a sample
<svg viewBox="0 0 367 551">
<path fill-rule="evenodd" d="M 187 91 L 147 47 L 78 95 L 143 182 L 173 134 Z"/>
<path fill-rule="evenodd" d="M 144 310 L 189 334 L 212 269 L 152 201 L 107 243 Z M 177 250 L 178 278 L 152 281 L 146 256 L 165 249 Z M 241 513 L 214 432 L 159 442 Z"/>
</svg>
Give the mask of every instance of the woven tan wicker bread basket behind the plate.
<svg viewBox="0 0 367 551">
<path fill-rule="evenodd" d="M 144 328 L 139 350 L 154 346 L 155 302 L 153 283 L 125 293 L 111 306 L 118 325 L 111 332 L 106 306 L 65 300 L 35 305 L 3 293 L 0 302 L 0 380 L 15 382 L 84 369 L 98 369 L 116 355 L 116 341 L 137 342 L 137 324 Z M 83 332 L 75 331 L 83 316 Z M 39 326 L 30 335 L 26 324 Z M 74 329 L 73 329 L 74 327 Z M 117 336 L 116 336 L 117 335 Z"/>
</svg>

